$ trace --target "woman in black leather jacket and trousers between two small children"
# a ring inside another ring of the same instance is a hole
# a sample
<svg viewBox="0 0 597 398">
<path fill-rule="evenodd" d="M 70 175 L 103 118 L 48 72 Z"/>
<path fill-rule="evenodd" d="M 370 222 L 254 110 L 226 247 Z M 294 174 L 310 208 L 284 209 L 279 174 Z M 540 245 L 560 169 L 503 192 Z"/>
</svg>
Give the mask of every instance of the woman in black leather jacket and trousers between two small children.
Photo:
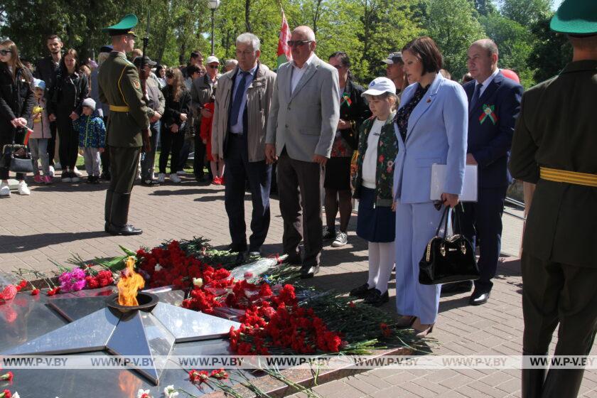
<svg viewBox="0 0 597 398">
<path fill-rule="evenodd" d="M 66 50 L 60 60 L 58 75 L 48 93 L 48 115 L 50 122 L 58 125 L 58 155 L 62 165 L 61 180 L 76 183 L 75 165 L 79 154 L 79 134 L 72 127 L 72 121 L 82 113 L 83 99 L 89 97 L 89 83 L 85 73 L 79 72 L 77 51 Z"/>
</svg>

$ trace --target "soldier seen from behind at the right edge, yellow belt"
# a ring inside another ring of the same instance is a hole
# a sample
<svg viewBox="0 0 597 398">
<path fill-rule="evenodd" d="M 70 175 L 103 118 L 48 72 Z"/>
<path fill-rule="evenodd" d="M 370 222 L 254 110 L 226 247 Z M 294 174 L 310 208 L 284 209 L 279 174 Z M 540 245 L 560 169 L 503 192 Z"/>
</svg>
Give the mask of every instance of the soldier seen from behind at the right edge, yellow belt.
<svg viewBox="0 0 597 398">
<path fill-rule="evenodd" d="M 551 28 L 574 58 L 525 92 L 510 172 L 536 183 L 522 244 L 525 355 L 588 355 L 597 330 L 597 1 L 566 0 Z M 583 369 L 522 370 L 522 397 L 576 397 Z"/>
</svg>

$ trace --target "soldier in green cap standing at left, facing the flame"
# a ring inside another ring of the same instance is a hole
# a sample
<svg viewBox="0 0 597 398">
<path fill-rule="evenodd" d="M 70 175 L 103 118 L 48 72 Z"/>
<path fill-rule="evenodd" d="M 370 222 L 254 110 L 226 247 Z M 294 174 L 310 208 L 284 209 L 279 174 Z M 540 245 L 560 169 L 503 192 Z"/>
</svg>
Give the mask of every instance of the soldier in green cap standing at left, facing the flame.
<svg viewBox="0 0 597 398">
<path fill-rule="evenodd" d="M 107 145 L 112 179 L 106 193 L 105 230 L 112 235 L 139 235 L 127 224 L 131 190 L 136 176 L 141 146 L 149 151 L 149 119 L 135 66 L 127 60 L 135 44 L 132 29 L 137 17 L 129 14 L 103 31 L 112 36 L 113 51 L 99 70 L 99 99 L 109 104 Z M 142 134 L 145 132 L 146 134 Z"/>
</svg>

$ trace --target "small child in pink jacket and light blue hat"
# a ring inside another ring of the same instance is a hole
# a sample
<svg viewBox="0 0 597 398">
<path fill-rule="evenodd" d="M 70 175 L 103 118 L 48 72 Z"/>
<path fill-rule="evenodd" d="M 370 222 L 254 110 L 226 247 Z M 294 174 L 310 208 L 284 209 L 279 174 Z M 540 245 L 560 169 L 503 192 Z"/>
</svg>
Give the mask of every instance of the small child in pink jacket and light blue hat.
<svg viewBox="0 0 597 398">
<path fill-rule="evenodd" d="M 52 183 L 50 176 L 50 158 L 48 156 L 48 141 L 52 136 L 50 132 L 50 119 L 45 106 L 45 82 L 43 80 L 33 79 L 33 94 L 35 103 L 31 111 L 31 118 L 28 125 L 31 127 L 29 136 L 29 151 L 31 151 L 31 160 L 33 161 L 33 180 L 36 183 Z M 39 173 L 39 163 L 41 161 L 41 171 Z"/>
</svg>

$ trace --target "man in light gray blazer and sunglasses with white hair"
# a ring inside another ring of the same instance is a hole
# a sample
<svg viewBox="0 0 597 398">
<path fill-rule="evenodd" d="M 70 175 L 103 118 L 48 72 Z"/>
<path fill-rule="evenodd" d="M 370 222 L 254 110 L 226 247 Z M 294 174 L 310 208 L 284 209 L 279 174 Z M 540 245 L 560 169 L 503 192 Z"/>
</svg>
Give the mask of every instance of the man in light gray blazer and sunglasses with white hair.
<svg viewBox="0 0 597 398">
<path fill-rule="evenodd" d="M 278 69 L 265 154 L 268 163 L 278 161 L 284 252 L 291 264 L 302 264 L 302 278 L 311 278 L 319 271 L 323 247 L 321 181 L 340 118 L 340 88 L 338 71 L 314 53 L 311 28 L 298 26 L 288 44 L 293 60 Z M 298 244 L 303 237 L 301 259 Z"/>
</svg>

